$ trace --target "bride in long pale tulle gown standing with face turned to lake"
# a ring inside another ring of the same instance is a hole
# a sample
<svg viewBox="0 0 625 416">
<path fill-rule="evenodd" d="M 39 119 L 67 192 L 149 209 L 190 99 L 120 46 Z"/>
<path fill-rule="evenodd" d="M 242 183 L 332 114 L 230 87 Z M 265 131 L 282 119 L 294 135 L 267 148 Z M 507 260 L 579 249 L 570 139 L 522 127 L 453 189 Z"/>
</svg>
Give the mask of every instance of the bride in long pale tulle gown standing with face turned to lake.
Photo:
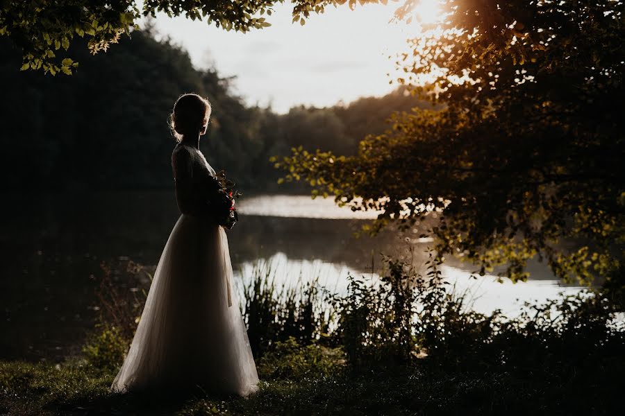
<svg viewBox="0 0 625 416">
<path fill-rule="evenodd" d="M 228 239 L 209 214 L 215 171 L 199 150 L 210 104 L 178 98 L 172 128 L 176 200 L 182 215 L 158 261 L 135 338 L 111 388 L 191 388 L 247 396 L 258 374 L 235 292 Z"/>
</svg>

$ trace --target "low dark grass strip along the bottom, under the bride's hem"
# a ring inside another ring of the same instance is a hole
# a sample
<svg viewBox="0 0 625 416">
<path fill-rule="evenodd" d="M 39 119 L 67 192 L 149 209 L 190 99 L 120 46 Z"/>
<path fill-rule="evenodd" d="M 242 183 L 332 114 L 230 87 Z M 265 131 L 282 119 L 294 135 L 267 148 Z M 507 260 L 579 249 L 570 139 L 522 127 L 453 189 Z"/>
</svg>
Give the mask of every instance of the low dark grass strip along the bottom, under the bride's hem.
<svg viewBox="0 0 625 416">
<path fill-rule="evenodd" d="M 450 370 L 428 358 L 347 370 L 342 352 L 291 344 L 259 363 L 260 391 L 215 397 L 108 391 L 115 370 L 83 361 L 0 362 L 2 415 L 617 415 L 625 359 L 553 359 L 536 365 Z"/>
</svg>

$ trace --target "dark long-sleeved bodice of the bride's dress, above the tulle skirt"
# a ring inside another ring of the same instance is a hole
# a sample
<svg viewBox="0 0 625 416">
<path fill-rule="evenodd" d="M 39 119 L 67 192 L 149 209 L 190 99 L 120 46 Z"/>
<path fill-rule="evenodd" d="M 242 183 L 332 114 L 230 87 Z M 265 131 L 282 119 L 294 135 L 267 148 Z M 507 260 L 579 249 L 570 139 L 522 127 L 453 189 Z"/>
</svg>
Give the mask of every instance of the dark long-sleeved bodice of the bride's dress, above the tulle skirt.
<svg viewBox="0 0 625 416">
<path fill-rule="evenodd" d="M 178 144 L 172 153 L 176 202 L 183 214 L 201 216 L 206 211 L 206 189 L 215 170 L 197 148 Z"/>
</svg>

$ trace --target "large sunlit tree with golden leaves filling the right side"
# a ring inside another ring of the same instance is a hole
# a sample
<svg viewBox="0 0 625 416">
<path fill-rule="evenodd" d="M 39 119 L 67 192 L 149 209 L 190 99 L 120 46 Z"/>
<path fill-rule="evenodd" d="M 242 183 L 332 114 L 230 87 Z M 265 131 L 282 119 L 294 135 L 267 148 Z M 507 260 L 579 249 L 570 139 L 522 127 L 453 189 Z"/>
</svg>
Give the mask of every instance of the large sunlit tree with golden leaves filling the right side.
<svg viewBox="0 0 625 416">
<path fill-rule="evenodd" d="M 399 83 L 441 107 L 396 116 L 356 156 L 299 148 L 276 166 L 341 205 L 383 209 L 372 232 L 438 216 L 425 231 L 439 256 L 481 273 L 506 264 L 525 279 L 537 257 L 562 278 L 622 275 L 625 3 L 442 4 L 444 22 L 398 60 Z"/>
</svg>

